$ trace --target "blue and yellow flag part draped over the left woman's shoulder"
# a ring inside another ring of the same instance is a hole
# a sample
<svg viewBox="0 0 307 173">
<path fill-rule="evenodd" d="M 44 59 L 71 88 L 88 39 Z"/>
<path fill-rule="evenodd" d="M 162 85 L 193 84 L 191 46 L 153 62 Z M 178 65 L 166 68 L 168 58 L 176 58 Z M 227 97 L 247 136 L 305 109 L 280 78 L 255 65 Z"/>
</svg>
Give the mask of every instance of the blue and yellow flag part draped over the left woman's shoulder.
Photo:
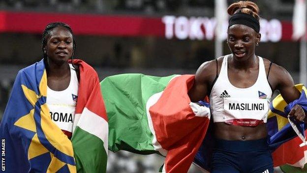
<svg viewBox="0 0 307 173">
<path fill-rule="evenodd" d="M 21 69 L 0 124 L 2 172 L 76 172 L 69 139 L 46 105 L 43 61 Z"/>
</svg>

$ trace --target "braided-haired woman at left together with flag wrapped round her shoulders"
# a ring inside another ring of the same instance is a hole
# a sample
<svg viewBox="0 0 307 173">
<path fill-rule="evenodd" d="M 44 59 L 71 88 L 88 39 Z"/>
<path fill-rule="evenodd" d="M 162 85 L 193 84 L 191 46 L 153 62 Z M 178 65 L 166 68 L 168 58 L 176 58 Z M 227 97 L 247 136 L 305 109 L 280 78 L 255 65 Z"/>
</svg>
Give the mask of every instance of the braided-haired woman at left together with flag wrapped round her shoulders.
<svg viewBox="0 0 307 173">
<path fill-rule="evenodd" d="M 18 72 L 0 125 L 2 171 L 106 172 L 99 79 L 91 66 L 72 60 L 74 50 L 71 28 L 51 23 L 42 36 L 43 60 Z"/>
</svg>

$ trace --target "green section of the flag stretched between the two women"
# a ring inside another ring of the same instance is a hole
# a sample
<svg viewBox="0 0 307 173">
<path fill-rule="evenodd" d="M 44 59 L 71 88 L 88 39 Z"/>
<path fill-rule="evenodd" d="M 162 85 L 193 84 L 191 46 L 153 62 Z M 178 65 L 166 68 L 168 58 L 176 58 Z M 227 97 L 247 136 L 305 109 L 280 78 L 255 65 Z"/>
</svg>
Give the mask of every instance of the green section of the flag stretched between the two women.
<svg viewBox="0 0 307 173">
<path fill-rule="evenodd" d="M 174 76 L 120 74 L 107 77 L 101 82 L 109 119 L 109 150 L 156 153 L 146 103 L 152 95 L 163 91 Z"/>
</svg>

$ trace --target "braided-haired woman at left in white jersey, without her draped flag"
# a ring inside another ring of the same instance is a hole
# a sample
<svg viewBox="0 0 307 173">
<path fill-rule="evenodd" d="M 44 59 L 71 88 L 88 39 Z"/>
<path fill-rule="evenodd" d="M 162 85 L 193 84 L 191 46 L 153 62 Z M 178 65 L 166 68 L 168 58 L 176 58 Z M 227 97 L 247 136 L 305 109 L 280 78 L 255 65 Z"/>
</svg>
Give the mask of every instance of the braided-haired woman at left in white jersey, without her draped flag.
<svg viewBox="0 0 307 173">
<path fill-rule="evenodd" d="M 42 35 L 42 50 L 47 71 L 47 105 L 55 124 L 71 138 L 78 98 L 79 70 L 68 64 L 74 54 L 75 41 L 71 28 L 64 23 L 51 23 Z"/>
</svg>

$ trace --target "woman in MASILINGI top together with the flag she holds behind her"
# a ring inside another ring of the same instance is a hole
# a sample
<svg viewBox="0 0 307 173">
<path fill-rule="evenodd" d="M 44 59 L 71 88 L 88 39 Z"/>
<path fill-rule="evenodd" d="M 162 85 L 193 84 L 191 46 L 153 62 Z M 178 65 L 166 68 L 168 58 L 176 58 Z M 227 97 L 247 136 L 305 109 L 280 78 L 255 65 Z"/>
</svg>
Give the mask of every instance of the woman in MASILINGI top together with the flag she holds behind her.
<svg viewBox="0 0 307 173">
<path fill-rule="evenodd" d="M 285 69 L 255 55 L 261 38 L 255 3 L 233 3 L 228 13 L 232 54 L 204 63 L 195 77 L 126 74 L 101 82 L 108 88 L 102 91 L 106 103 L 114 104 L 106 104 L 111 150 L 158 152 L 166 156 L 161 170 L 166 173 L 187 172 L 194 157 L 212 173 L 273 173 L 276 166 L 307 163 L 306 146 L 300 147 L 304 88 L 296 88 Z M 275 90 L 280 96 L 270 106 Z M 203 111 L 208 104 L 195 108 L 207 95 L 210 111 Z"/>
</svg>

